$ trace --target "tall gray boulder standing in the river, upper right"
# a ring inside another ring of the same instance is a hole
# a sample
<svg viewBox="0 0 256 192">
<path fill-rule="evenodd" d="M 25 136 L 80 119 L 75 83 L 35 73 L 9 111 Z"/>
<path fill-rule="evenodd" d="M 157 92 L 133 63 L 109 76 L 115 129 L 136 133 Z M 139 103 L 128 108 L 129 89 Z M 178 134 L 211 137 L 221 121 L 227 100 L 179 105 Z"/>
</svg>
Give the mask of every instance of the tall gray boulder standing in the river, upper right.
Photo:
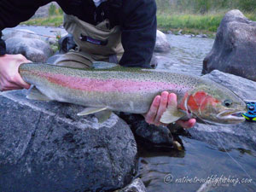
<svg viewBox="0 0 256 192">
<path fill-rule="evenodd" d="M 202 73 L 214 69 L 256 81 L 256 22 L 239 10 L 228 12 L 218 27 L 211 52 L 203 61 Z"/>
</svg>

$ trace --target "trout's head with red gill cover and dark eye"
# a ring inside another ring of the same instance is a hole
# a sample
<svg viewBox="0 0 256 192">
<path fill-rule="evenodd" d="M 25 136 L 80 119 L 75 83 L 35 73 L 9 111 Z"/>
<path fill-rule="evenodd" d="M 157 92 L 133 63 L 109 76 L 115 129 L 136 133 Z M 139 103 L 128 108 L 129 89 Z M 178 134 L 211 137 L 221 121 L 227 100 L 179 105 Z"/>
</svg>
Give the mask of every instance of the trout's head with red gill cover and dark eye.
<svg viewBox="0 0 256 192">
<path fill-rule="evenodd" d="M 219 84 L 201 85 L 190 91 L 184 107 L 188 113 L 210 124 L 234 125 L 245 119 L 246 103 L 231 90 Z"/>
</svg>

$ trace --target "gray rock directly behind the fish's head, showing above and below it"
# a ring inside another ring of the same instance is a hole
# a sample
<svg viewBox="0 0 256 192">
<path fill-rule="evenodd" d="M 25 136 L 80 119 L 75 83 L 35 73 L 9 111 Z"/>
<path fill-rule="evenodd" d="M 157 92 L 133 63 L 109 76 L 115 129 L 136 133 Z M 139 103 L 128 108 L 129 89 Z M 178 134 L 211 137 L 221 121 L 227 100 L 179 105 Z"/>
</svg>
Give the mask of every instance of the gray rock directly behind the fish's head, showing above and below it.
<svg viewBox="0 0 256 192">
<path fill-rule="evenodd" d="M 203 76 L 233 90 L 244 100 L 256 101 L 256 82 L 243 79 L 218 70 Z M 256 150 L 256 123 L 244 122 L 240 125 L 196 124 L 189 129 L 195 139 L 218 146 L 219 148 L 244 148 Z"/>
</svg>

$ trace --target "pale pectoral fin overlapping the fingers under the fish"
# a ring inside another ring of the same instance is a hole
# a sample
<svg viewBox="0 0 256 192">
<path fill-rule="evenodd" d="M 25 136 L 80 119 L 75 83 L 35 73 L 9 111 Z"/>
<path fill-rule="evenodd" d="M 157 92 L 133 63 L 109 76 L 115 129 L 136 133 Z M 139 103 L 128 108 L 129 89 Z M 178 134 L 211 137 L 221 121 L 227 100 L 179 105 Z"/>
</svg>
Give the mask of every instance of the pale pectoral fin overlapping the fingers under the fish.
<svg viewBox="0 0 256 192">
<path fill-rule="evenodd" d="M 164 124 L 171 124 L 178 119 L 183 118 L 186 114 L 179 111 L 176 106 L 170 106 L 166 109 L 166 112 L 162 114 L 160 122 Z"/>
</svg>

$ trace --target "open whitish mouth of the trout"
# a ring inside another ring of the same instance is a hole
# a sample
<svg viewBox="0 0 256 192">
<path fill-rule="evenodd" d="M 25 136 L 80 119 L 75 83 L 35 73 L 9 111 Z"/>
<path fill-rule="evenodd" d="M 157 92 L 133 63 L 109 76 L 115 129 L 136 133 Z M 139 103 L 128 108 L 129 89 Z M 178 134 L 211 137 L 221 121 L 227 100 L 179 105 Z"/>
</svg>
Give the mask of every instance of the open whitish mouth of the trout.
<svg viewBox="0 0 256 192">
<path fill-rule="evenodd" d="M 246 113 L 245 110 L 241 111 L 224 111 L 221 113 L 218 113 L 217 118 L 222 120 L 228 120 L 228 121 L 244 121 L 244 117 L 241 116 L 241 113 Z"/>
</svg>

